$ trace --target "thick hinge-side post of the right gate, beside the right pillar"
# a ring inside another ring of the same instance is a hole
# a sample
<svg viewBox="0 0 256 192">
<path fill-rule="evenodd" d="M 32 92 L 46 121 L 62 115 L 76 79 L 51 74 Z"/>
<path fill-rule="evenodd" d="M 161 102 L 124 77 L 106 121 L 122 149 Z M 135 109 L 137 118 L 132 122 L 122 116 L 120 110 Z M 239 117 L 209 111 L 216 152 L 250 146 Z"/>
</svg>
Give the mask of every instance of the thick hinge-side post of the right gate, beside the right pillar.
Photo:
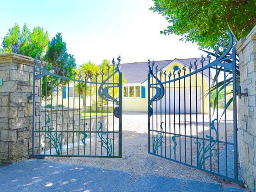
<svg viewBox="0 0 256 192">
<path fill-rule="evenodd" d="M 233 79 L 233 131 L 234 131 L 234 178 L 238 179 L 237 117 L 236 117 L 236 50 L 232 48 Z"/>
</svg>

